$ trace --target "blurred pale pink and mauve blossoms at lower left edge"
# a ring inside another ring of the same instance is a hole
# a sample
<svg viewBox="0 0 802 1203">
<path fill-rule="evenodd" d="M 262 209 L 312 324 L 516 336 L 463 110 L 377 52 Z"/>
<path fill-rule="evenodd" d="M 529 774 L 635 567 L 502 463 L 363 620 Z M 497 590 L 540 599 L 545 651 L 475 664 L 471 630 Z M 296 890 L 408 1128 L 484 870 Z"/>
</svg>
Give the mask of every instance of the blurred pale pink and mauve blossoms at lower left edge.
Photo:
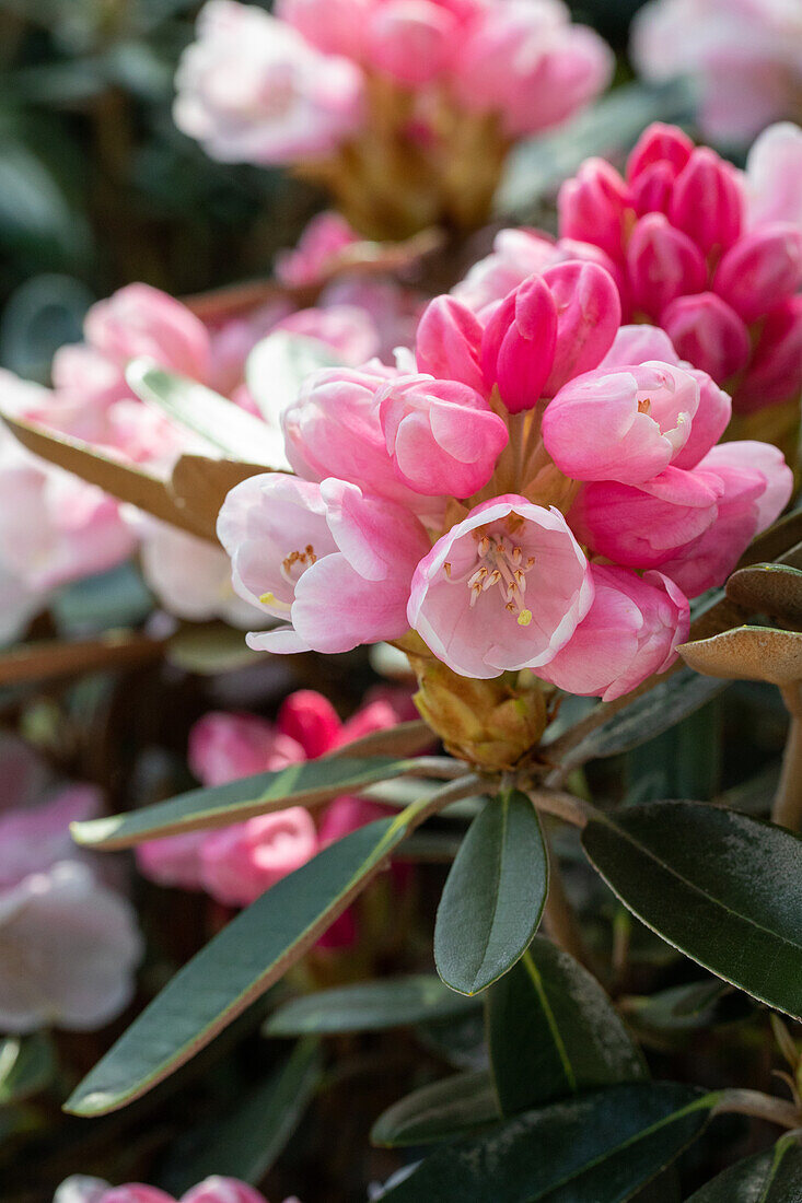
<svg viewBox="0 0 802 1203">
<path fill-rule="evenodd" d="M 132 907 L 70 837 L 100 796 L 48 788 L 33 753 L 10 739 L 0 765 L 0 1031 L 92 1031 L 128 1005 L 142 955 Z"/>
</svg>

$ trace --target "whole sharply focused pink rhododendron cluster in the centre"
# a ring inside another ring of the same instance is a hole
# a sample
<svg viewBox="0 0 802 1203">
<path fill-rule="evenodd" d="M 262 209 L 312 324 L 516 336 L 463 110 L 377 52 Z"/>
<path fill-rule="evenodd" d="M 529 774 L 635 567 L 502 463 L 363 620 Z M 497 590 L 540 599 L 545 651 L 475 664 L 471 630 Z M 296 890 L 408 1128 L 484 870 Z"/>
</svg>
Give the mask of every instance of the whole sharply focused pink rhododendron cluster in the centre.
<svg viewBox="0 0 802 1203">
<path fill-rule="evenodd" d="M 285 620 L 250 646 L 412 628 L 461 676 L 605 698 L 667 668 L 688 598 L 792 478 L 773 446 L 717 445 L 729 396 L 620 314 L 613 275 L 568 259 L 478 313 L 437 297 L 414 365 L 313 373 L 282 419 L 296 475 L 249 478 L 218 520 L 240 595 Z"/>
</svg>

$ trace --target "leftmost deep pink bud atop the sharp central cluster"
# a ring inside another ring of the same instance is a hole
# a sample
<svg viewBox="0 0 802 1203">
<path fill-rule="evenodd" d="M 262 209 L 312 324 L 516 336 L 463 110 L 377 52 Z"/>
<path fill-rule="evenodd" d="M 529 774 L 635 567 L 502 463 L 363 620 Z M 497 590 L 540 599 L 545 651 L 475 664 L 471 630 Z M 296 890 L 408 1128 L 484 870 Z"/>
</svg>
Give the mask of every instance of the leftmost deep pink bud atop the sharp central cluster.
<svg viewBox="0 0 802 1203">
<path fill-rule="evenodd" d="M 415 334 L 419 372 L 438 380 L 461 380 L 482 392 L 482 322 L 455 297 L 435 297 L 424 309 Z"/>
</svg>

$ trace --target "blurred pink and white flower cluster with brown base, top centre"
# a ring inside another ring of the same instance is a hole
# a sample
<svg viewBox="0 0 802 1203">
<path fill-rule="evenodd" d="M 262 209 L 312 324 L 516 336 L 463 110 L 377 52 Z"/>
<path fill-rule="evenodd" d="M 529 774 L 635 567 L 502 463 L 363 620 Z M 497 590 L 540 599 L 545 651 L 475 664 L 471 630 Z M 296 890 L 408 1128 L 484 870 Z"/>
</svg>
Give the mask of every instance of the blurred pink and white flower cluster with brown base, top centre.
<svg viewBox="0 0 802 1203">
<path fill-rule="evenodd" d="M 560 0 L 210 0 L 175 117 L 224 161 L 287 164 L 371 237 L 486 217 L 519 138 L 608 83 Z"/>
</svg>

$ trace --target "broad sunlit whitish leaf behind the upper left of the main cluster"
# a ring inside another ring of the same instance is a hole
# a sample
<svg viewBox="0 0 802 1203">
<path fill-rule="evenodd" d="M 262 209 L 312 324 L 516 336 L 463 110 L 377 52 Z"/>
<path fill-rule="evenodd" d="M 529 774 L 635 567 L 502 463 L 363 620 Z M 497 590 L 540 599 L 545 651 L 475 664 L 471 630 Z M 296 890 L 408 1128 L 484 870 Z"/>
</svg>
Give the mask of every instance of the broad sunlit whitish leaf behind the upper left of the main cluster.
<svg viewBox="0 0 802 1203">
<path fill-rule="evenodd" d="M 282 411 L 296 399 L 309 373 L 342 363 L 342 356 L 318 338 L 276 330 L 256 343 L 248 356 L 248 391 L 265 421 L 278 429 Z"/>
</svg>

